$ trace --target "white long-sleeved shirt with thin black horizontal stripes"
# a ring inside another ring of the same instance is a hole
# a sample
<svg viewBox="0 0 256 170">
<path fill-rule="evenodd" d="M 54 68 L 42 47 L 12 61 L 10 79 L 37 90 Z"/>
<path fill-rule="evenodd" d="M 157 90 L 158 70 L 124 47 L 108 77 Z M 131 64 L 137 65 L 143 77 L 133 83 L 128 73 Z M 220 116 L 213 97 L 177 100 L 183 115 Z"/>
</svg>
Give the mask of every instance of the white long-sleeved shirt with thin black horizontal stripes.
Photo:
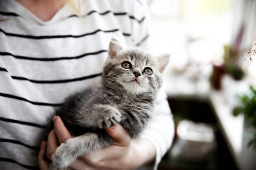
<svg viewBox="0 0 256 170">
<path fill-rule="evenodd" d="M 78 17 L 70 6 L 43 22 L 15 0 L 0 1 L 0 170 L 37 169 L 35 137 L 64 98 L 99 83 L 108 44 L 148 48 L 145 0 L 86 0 Z M 173 138 L 163 98 L 143 133 L 157 150 L 156 164 Z"/>
</svg>

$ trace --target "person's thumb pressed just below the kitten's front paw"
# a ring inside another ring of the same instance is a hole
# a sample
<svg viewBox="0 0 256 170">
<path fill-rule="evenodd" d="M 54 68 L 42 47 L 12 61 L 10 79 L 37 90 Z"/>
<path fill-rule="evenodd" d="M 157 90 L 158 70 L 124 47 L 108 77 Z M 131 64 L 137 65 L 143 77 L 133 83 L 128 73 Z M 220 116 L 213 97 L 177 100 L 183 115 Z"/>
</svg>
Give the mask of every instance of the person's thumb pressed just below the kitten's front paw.
<svg viewBox="0 0 256 170">
<path fill-rule="evenodd" d="M 119 124 L 107 128 L 106 131 L 114 139 L 114 144 L 119 147 L 126 147 L 131 143 L 131 136 Z"/>
</svg>

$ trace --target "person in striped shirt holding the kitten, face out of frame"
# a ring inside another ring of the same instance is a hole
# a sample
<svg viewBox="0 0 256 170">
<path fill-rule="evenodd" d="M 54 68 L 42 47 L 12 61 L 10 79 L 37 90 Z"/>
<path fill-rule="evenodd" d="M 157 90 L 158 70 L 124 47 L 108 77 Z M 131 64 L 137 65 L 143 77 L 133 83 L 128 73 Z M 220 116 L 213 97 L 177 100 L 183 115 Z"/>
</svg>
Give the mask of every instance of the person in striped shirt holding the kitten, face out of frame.
<svg viewBox="0 0 256 170">
<path fill-rule="evenodd" d="M 64 98 L 99 83 L 108 44 L 149 49 L 146 0 L 0 1 L 0 169 L 47 170 L 59 143 L 72 138 L 60 117 L 48 141 L 36 142 Z M 121 125 L 106 129 L 114 143 L 85 154 L 73 170 L 154 168 L 172 144 L 174 123 L 166 95 L 138 141 Z"/>
</svg>

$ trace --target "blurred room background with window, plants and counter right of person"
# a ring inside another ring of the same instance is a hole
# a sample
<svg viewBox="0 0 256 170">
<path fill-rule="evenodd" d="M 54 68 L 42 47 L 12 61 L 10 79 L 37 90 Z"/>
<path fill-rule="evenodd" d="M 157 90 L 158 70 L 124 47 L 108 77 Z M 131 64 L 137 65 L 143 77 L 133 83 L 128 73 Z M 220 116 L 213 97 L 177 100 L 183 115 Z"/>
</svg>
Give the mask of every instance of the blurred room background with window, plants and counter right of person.
<svg viewBox="0 0 256 170">
<path fill-rule="evenodd" d="M 175 141 L 159 170 L 256 170 L 256 0 L 148 0 Z M 252 52 L 252 53 L 248 53 Z"/>
</svg>

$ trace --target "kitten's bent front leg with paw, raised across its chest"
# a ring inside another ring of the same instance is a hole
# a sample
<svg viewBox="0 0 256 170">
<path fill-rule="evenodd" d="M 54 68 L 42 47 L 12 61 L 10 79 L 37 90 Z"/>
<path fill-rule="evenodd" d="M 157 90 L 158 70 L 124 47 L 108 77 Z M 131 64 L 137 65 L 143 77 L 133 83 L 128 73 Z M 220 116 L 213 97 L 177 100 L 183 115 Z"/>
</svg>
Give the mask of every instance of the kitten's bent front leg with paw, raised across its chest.
<svg viewBox="0 0 256 170">
<path fill-rule="evenodd" d="M 93 127 L 109 128 L 122 120 L 122 114 L 118 108 L 111 105 L 94 105 L 87 111 L 86 124 Z M 84 125 L 84 119 L 79 119 L 79 124 Z"/>
</svg>

